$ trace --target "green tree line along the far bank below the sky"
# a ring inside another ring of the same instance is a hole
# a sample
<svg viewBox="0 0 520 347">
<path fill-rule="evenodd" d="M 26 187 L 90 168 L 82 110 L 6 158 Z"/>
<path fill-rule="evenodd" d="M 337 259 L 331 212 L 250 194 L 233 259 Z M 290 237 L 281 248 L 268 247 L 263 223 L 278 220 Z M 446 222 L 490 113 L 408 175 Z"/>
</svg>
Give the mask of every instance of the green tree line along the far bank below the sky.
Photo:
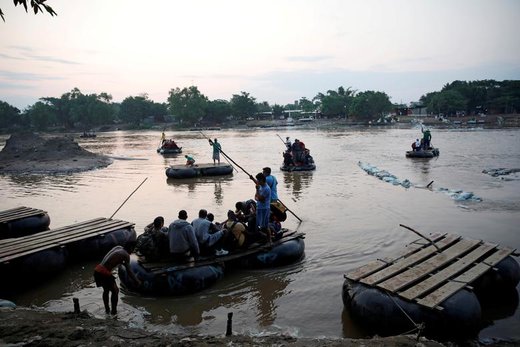
<svg viewBox="0 0 520 347">
<path fill-rule="evenodd" d="M 433 114 L 516 113 L 520 105 L 520 81 L 455 81 L 441 91 L 423 95 L 420 103 Z M 164 103 L 150 100 L 146 94 L 129 96 L 117 103 L 106 92 L 83 94 L 74 88 L 59 98 L 42 97 L 23 111 L 0 101 L 0 128 L 87 130 L 116 123 L 143 127 L 169 122 L 189 127 L 230 120 L 241 122 L 260 115 L 264 119 L 279 119 L 288 110 L 312 112 L 319 117 L 371 121 L 398 108 L 402 109 L 403 105 L 393 105 L 384 92 L 358 92 L 344 87 L 320 92 L 310 100 L 302 97 L 287 105 L 257 102 L 244 91 L 233 94 L 230 100 L 210 100 L 197 86 L 171 89 Z"/>
</svg>

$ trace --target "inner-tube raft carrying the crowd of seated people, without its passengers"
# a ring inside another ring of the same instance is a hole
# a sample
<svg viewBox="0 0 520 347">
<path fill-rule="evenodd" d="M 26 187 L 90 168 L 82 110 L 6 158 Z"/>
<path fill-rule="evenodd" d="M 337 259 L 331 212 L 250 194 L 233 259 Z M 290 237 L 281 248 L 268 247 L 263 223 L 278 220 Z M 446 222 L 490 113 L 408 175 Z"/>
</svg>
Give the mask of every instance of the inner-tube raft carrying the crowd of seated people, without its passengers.
<svg viewBox="0 0 520 347">
<path fill-rule="evenodd" d="M 119 279 L 124 289 L 141 295 L 186 295 L 215 284 L 224 277 L 225 269 L 273 268 L 300 261 L 305 255 L 303 238 L 302 233 L 285 231 L 272 246 L 253 244 L 245 250 L 184 264 L 168 261 L 148 263 L 132 256 L 130 267 L 141 284 L 136 285 L 122 266 L 119 267 Z"/>
</svg>

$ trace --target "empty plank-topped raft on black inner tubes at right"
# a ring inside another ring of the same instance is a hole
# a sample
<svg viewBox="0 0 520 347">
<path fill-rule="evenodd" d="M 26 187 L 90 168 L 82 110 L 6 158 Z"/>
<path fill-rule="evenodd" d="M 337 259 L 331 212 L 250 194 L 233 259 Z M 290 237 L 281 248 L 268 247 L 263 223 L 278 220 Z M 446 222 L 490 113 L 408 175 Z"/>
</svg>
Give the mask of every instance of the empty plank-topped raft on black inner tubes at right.
<svg viewBox="0 0 520 347">
<path fill-rule="evenodd" d="M 482 303 L 516 292 L 520 266 L 511 255 L 497 244 L 435 234 L 346 274 L 343 303 L 374 334 L 472 338 L 484 324 Z"/>
</svg>

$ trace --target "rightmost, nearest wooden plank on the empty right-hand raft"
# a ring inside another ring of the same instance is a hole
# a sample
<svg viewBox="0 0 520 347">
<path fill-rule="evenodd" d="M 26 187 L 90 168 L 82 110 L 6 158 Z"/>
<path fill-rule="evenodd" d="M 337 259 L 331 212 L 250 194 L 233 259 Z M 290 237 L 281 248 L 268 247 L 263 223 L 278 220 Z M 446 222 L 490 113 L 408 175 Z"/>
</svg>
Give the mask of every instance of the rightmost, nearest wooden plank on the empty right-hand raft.
<svg viewBox="0 0 520 347">
<path fill-rule="evenodd" d="M 494 265 L 502 261 L 513 252 L 514 250 L 509 248 L 497 250 L 497 252 L 493 253 L 468 271 L 464 272 L 462 275 L 446 283 L 423 299 L 417 300 L 417 303 L 430 308 L 441 305 L 450 296 L 482 276 Z"/>
</svg>

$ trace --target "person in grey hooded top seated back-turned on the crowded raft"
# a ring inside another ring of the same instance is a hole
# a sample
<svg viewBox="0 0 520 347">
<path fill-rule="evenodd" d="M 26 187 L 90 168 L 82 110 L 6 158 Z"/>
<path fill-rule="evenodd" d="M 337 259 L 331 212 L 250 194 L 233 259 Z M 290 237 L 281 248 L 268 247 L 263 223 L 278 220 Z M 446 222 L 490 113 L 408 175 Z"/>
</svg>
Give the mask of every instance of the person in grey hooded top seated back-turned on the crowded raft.
<svg viewBox="0 0 520 347">
<path fill-rule="evenodd" d="M 195 236 L 193 226 L 188 223 L 188 213 L 179 211 L 179 219 L 173 221 L 168 227 L 168 239 L 170 241 L 170 255 L 174 261 L 185 262 L 191 258 L 198 258 L 199 243 Z"/>
</svg>

